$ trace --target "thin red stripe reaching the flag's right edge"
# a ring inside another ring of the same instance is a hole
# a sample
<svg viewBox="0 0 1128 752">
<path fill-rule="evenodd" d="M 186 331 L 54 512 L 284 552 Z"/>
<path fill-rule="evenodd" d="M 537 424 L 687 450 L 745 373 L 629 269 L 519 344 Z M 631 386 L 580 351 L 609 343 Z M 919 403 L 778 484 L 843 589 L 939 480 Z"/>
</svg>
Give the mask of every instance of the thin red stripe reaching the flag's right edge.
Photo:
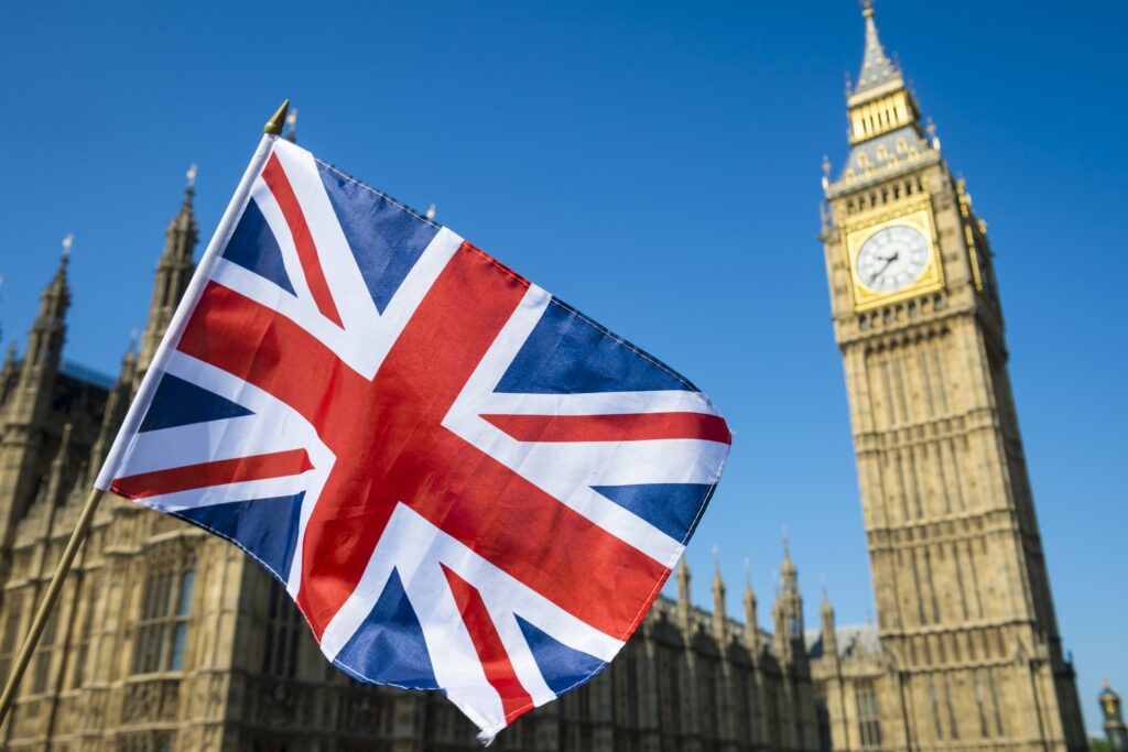
<svg viewBox="0 0 1128 752">
<path fill-rule="evenodd" d="M 483 415 L 518 441 L 650 441 L 698 439 L 732 443 L 720 415 L 642 413 L 627 415 Z"/>
</svg>

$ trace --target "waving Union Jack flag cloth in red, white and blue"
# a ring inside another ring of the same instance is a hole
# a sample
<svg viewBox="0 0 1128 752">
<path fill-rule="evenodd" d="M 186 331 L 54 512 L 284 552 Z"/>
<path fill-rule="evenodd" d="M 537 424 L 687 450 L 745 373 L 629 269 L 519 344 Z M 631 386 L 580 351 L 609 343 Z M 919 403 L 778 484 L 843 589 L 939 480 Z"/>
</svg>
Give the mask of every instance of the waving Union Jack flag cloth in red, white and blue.
<svg viewBox="0 0 1128 752">
<path fill-rule="evenodd" d="M 488 740 L 623 647 L 729 430 L 449 229 L 264 148 L 97 486 L 239 546 L 334 665 L 442 690 Z"/>
</svg>

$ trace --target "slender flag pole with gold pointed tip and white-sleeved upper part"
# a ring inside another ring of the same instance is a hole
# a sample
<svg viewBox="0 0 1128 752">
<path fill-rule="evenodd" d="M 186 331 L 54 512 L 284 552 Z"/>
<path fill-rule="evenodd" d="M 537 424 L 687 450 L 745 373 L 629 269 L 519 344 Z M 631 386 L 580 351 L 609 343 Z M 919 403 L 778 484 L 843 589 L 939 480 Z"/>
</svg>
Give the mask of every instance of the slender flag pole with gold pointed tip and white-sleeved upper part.
<svg viewBox="0 0 1128 752">
<path fill-rule="evenodd" d="M 218 247 L 227 242 L 227 236 L 231 231 L 231 225 L 238 219 L 239 214 L 243 213 L 243 206 L 246 203 L 247 197 L 250 195 L 252 184 L 258 176 L 266 157 L 270 154 L 268 145 L 274 139 L 282 134 L 282 127 L 285 124 L 285 115 L 289 108 L 290 100 L 287 99 L 282 103 L 282 106 L 277 108 L 274 115 L 266 121 L 266 125 L 263 127 L 263 141 L 255 151 L 255 157 L 252 159 L 250 165 L 247 166 L 247 171 L 244 174 L 243 180 L 240 180 L 235 196 L 231 197 L 231 203 L 228 205 L 222 220 L 220 220 L 220 224 L 215 229 L 215 235 L 213 236 L 211 244 L 209 244 L 208 249 L 204 251 L 204 258 L 201 259 L 200 263 L 201 267 L 213 260 L 215 254 L 218 253 Z M 199 290 L 194 291 L 193 287 L 199 289 L 201 284 L 202 275 L 197 273 L 188 284 L 188 290 L 185 291 L 185 299 L 195 299 L 199 294 Z M 168 333 L 166 333 L 165 340 L 161 342 L 157 356 L 153 359 L 155 364 L 160 363 L 162 360 L 162 351 L 166 350 L 169 334 L 178 334 L 179 329 L 183 328 L 184 318 L 186 316 L 184 309 L 185 307 L 180 306 L 174 315 L 173 321 L 168 327 Z M 125 417 L 125 424 L 130 424 L 131 419 L 134 423 L 140 421 L 141 416 L 135 415 L 138 410 L 134 408 L 138 405 L 149 404 L 148 398 L 142 398 L 146 397 L 147 392 L 153 389 L 155 380 L 149 378 L 152 372 L 153 369 L 150 369 L 149 373 L 146 374 L 146 379 L 143 379 L 141 388 L 138 390 L 138 395 L 133 400 L 133 405 L 130 407 L 129 415 Z M 125 426 L 123 425 L 123 430 L 118 434 L 118 440 L 121 440 L 122 435 L 132 435 L 132 431 L 125 431 Z M 120 441 L 115 441 L 114 445 L 111 448 L 105 466 L 103 467 L 103 474 L 116 465 L 115 460 L 121 453 L 118 444 Z M 51 611 L 55 605 L 55 601 L 59 600 L 59 593 L 62 591 L 63 582 L 67 580 L 71 565 L 74 563 L 74 556 L 78 555 L 78 549 L 82 547 L 82 542 L 86 540 L 86 536 L 90 531 L 90 523 L 94 521 L 94 515 L 98 511 L 98 504 L 102 502 L 102 497 L 106 495 L 103 487 L 108 487 L 108 483 L 106 478 L 103 478 L 99 475 L 98 480 L 95 481 L 95 487 L 90 489 L 90 495 L 86 498 L 86 505 L 82 507 L 82 513 L 79 515 L 78 522 L 74 524 L 74 530 L 71 532 L 65 550 L 63 550 L 62 559 L 60 559 L 59 566 L 55 567 L 55 573 L 51 577 L 51 584 L 47 585 L 47 592 L 44 593 L 43 601 L 39 603 L 35 618 L 32 620 L 32 626 L 27 631 L 27 638 L 24 640 L 24 645 L 19 649 L 19 655 L 16 657 L 16 662 L 12 665 L 11 673 L 8 675 L 3 695 L 0 695 L 0 725 L 3 724 L 5 719 L 8 717 L 8 711 L 11 710 L 11 706 L 16 700 L 16 690 L 19 687 L 20 680 L 24 678 L 24 673 L 27 671 L 28 664 L 32 662 L 32 655 L 35 653 L 35 646 L 38 644 L 39 637 L 43 635 L 43 629 L 47 626 L 47 619 L 51 618 Z"/>
</svg>

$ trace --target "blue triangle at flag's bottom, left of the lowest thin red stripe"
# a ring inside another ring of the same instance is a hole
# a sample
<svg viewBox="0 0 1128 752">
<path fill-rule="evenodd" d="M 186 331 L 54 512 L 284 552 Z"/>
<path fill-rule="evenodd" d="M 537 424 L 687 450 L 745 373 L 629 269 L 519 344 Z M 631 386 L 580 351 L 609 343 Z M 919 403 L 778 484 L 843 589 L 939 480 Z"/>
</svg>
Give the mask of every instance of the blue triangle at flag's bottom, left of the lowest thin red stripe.
<svg viewBox="0 0 1128 752">
<path fill-rule="evenodd" d="M 423 627 L 407 600 L 399 573 L 388 584 L 371 613 L 333 661 L 358 679 L 407 689 L 439 689 Z"/>
</svg>

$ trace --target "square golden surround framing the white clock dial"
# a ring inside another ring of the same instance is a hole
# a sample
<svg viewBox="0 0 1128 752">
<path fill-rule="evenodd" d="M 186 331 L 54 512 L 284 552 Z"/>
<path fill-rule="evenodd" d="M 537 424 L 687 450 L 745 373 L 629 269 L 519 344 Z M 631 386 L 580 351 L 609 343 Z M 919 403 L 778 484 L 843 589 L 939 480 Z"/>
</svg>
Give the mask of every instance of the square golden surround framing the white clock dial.
<svg viewBox="0 0 1128 752">
<path fill-rule="evenodd" d="M 904 290 L 878 292 L 871 290 L 857 275 L 855 259 L 866 240 L 889 227 L 905 225 L 919 230 L 928 242 L 928 263 L 919 276 Z M 869 220 L 854 222 L 841 231 L 846 267 L 849 269 L 851 300 L 855 311 L 864 311 L 907 298 L 934 292 L 944 286 L 944 268 L 940 258 L 936 224 L 932 218 L 931 202 L 924 201 L 897 212 L 885 212 Z"/>
</svg>

